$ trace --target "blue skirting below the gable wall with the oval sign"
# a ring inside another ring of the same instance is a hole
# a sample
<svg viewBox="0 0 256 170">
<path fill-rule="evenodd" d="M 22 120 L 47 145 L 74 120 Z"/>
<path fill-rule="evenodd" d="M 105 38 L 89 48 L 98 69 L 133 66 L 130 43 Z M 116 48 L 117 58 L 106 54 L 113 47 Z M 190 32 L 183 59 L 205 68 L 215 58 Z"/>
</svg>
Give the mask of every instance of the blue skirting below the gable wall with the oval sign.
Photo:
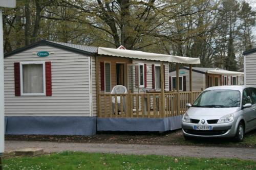
<svg viewBox="0 0 256 170">
<path fill-rule="evenodd" d="M 94 135 L 96 116 L 8 116 L 5 118 L 8 135 Z"/>
</svg>

